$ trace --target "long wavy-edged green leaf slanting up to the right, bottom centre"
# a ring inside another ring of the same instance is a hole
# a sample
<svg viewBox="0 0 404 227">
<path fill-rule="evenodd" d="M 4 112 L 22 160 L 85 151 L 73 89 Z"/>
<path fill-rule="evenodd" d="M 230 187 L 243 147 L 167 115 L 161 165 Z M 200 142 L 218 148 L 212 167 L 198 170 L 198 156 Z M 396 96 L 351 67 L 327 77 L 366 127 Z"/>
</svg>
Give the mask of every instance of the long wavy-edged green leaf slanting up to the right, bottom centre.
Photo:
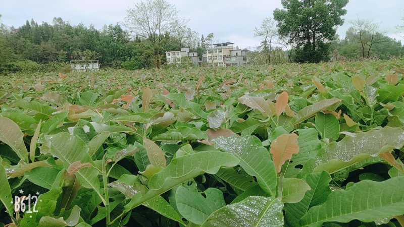
<svg viewBox="0 0 404 227">
<path fill-rule="evenodd" d="M 216 174 L 221 166 L 231 167 L 238 163 L 232 154 L 220 151 L 200 151 L 173 158 L 167 167 L 149 179 L 149 191 L 145 195 L 137 193 L 133 196 L 125 210 L 129 211 L 200 174 Z"/>
</svg>

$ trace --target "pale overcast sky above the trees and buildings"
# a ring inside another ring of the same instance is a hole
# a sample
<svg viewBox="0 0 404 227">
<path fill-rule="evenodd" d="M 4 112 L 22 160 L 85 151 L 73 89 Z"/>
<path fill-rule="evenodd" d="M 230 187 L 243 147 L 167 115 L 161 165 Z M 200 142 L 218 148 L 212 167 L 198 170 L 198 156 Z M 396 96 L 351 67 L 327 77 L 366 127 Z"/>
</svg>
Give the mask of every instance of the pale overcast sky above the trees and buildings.
<svg viewBox="0 0 404 227">
<path fill-rule="evenodd" d="M 2 22 L 8 26 L 19 27 L 26 20 L 34 19 L 52 23 L 54 17 L 77 25 L 82 22 L 88 26 L 93 24 L 101 29 L 103 25 L 116 24 L 123 21 L 126 10 L 132 8 L 140 0 L 12 0 L 2 1 L 0 14 Z M 205 36 L 211 32 L 219 42 L 234 42 L 240 48 L 260 45 L 260 38 L 254 37 L 254 28 L 260 27 L 266 17 L 272 17 L 273 10 L 282 8 L 280 0 L 168 0 L 180 11 L 179 15 L 190 19 L 187 26 Z M 396 26 L 403 25 L 404 0 L 350 0 L 345 9 L 344 25 L 337 33 L 345 35 L 350 27 L 349 21 L 360 19 L 373 20 L 380 23 L 380 29 L 386 35 L 400 39 L 400 30 Z"/>
</svg>

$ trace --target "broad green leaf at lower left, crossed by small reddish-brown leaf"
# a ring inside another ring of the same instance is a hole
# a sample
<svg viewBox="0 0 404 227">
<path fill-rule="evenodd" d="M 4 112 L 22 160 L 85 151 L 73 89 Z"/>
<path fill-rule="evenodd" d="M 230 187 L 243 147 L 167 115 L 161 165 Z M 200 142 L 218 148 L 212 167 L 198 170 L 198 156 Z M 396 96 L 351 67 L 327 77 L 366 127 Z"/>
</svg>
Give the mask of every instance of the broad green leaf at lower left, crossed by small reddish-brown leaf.
<svg viewBox="0 0 404 227">
<path fill-rule="evenodd" d="M 91 157 L 88 155 L 88 147 L 79 137 L 71 136 L 69 133 L 58 133 L 45 136 L 45 139 L 52 143 L 51 154 L 63 161 L 65 169 L 68 169 L 75 161 L 92 163 Z M 91 188 L 99 194 L 97 176 L 98 171 L 92 167 L 82 168 L 76 173 L 81 186 Z"/>
</svg>

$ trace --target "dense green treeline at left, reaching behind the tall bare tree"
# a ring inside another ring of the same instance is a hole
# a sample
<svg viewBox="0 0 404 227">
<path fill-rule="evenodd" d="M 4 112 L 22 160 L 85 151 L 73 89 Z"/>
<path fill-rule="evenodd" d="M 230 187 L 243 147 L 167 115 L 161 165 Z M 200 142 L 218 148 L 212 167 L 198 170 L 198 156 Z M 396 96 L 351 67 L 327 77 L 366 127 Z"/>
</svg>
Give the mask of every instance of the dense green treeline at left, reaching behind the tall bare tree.
<svg viewBox="0 0 404 227">
<path fill-rule="evenodd" d="M 0 15 L 1 19 L 1 15 Z M 186 27 L 181 36 L 164 35 L 167 44 L 164 51 L 188 46 L 203 52 L 198 34 Z M 101 67 L 141 69 L 155 67 L 154 50 L 148 40 L 130 34 L 117 25 L 71 25 L 62 18 L 54 18 L 52 24 L 34 20 L 19 28 L 0 23 L 0 73 L 16 71 L 70 70 L 70 60 L 86 58 L 99 60 Z"/>
</svg>

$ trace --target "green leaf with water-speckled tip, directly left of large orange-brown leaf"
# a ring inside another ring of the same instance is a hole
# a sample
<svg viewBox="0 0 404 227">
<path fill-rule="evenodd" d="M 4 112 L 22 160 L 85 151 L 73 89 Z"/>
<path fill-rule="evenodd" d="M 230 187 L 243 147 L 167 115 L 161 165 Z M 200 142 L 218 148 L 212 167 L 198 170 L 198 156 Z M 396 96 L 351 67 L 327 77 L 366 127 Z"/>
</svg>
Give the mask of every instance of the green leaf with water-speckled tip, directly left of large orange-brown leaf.
<svg viewBox="0 0 404 227">
<path fill-rule="evenodd" d="M 258 184 L 264 191 L 271 193 L 271 195 L 276 194 L 277 174 L 275 165 L 268 150 L 264 148 L 257 137 L 218 137 L 215 139 L 215 146 L 234 154 L 240 159 L 240 166 L 244 171 L 248 175 L 256 177 Z"/>
</svg>

